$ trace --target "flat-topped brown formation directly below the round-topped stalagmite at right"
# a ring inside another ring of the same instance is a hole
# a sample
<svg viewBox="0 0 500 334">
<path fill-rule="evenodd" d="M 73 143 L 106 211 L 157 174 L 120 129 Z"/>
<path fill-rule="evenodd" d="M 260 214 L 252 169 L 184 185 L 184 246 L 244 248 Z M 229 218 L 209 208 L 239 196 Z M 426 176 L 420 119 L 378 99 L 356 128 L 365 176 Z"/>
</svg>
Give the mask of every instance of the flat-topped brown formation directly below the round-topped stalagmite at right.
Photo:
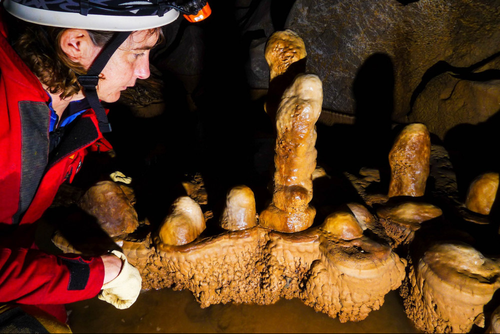
<svg viewBox="0 0 500 334">
<path fill-rule="evenodd" d="M 401 243 L 411 242 L 420 224 L 440 217 L 442 210 L 429 203 L 402 202 L 379 208 L 377 215 L 385 232 L 393 241 L 391 246 L 397 247 Z"/>
</svg>

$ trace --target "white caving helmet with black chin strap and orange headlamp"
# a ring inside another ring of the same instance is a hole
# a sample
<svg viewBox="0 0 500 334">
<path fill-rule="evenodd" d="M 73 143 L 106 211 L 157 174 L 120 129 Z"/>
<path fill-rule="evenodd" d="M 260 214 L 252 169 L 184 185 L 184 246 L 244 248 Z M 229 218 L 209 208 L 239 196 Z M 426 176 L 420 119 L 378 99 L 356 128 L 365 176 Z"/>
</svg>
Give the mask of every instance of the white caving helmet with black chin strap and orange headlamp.
<svg viewBox="0 0 500 334">
<path fill-rule="evenodd" d="M 97 97 L 98 75 L 114 51 L 132 31 L 166 25 L 179 12 L 190 22 L 210 15 L 206 0 L 0 0 L 5 10 L 22 20 L 42 25 L 117 31 L 78 82 L 94 109 L 101 132 L 110 132 L 104 108 Z"/>
</svg>

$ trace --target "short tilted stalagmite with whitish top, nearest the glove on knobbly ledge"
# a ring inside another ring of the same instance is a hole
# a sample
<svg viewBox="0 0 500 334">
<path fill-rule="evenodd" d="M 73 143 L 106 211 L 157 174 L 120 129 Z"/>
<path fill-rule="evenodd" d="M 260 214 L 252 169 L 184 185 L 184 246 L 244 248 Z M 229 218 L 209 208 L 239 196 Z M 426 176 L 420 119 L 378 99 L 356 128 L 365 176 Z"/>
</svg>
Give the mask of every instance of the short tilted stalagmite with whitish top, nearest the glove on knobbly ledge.
<svg viewBox="0 0 500 334">
<path fill-rule="evenodd" d="M 196 239 L 205 229 L 205 218 L 198 203 L 188 196 L 177 198 L 158 230 L 161 242 L 182 245 Z"/>
</svg>

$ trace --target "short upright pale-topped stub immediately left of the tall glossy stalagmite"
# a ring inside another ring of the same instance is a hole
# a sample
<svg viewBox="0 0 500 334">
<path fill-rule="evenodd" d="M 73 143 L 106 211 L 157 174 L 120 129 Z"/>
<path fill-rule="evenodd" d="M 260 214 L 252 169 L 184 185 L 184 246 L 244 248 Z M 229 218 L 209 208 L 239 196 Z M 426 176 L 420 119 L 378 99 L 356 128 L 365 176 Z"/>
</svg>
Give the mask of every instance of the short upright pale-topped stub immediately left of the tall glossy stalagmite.
<svg viewBox="0 0 500 334">
<path fill-rule="evenodd" d="M 257 225 L 255 197 L 246 185 L 237 185 L 227 193 L 220 226 L 228 230 L 240 230 Z"/>
</svg>

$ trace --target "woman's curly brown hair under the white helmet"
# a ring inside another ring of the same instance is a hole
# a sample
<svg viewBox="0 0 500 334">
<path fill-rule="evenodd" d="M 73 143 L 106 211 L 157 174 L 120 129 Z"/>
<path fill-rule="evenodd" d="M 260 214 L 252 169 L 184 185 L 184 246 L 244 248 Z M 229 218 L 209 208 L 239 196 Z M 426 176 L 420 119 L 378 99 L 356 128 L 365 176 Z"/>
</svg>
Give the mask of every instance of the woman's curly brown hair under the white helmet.
<svg viewBox="0 0 500 334">
<path fill-rule="evenodd" d="M 14 48 L 52 94 L 59 94 L 61 99 L 70 97 L 81 86 L 78 76 L 86 70 L 81 64 L 72 61 L 60 47 L 60 37 L 67 28 L 24 23 L 24 30 L 14 42 Z M 94 45 L 103 47 L 113 36 L 114 31 L 87 30 Z M 163 41 L 161 27 L 148 29 L 146 36 L 156 34 L 158 42 Z M 132 33 L 133 35 L 133 33 Z"/>
</svg>

